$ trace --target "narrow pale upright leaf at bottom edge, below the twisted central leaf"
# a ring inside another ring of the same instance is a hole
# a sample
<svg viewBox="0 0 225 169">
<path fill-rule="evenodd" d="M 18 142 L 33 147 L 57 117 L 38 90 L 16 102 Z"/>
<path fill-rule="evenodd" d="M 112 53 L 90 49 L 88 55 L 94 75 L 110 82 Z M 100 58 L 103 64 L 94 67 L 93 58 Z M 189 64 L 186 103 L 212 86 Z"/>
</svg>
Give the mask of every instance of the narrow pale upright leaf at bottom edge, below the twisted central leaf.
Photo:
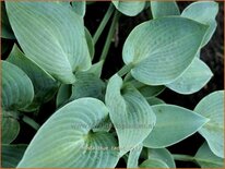
<svg viewBox="0 0 225 169">
<path fill-rule="evenodd" d="M 143 148 L 143 145 L 140 144 L 130 150 L 129 156 L 128 156 L 127 168 L 138 168 L 139 167 L 139 157 L 141 155 L 142 148 Z"/>
</svg>

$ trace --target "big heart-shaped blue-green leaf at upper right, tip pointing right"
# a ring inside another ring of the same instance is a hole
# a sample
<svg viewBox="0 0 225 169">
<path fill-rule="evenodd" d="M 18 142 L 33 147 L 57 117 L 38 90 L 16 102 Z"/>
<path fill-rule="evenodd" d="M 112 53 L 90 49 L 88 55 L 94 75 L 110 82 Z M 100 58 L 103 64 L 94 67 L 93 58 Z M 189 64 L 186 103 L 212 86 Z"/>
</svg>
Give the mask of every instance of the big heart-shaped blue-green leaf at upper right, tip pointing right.
<svg viewBox="0 0 225 169">
<path fill-rule="evenodd" d="M 137 26 L 122 58 L 132 76 L 149 85 L 171 83 L 192 62 L 208 26 L 180 16 L 159 17 Z"/>
</svg>

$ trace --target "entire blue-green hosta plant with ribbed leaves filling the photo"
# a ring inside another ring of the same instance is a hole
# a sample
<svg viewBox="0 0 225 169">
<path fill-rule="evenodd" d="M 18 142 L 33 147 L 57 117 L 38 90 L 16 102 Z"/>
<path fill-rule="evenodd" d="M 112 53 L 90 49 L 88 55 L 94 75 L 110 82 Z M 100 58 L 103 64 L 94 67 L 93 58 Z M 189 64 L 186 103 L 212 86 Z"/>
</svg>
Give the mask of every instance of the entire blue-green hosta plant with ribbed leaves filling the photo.
<svg viewBox="0 0 225 169">
<path fill-rule="evenodd" d="M 14 43 L 12 49 L 2 44 L 2 53 L 11 50 L 1 60 L 2 167 L 176 168 L 175 160 L 185 160 L 222 168 L 224 90 L 209 94 L 194 109 L 158 98 L 165 88 L 182 98 L 211 80 L 200 55 L 215 32 L 218 4 L 193 2 L 180 11 L 175 1 L 111 1 L 92 35 L 84 26 L 92 3 L 1 3 L 1 38 Z M 103 79 L 119 19 L 143 11 L 151 16 L 127 37 L 125 65 Z M 44 107 L 49 101 L 56 105 L 52 112 Z M 47 118 L 39 120 L 43 113 Z M 24 132 L 21 123 L 36 131 L 28 144 L 16 140 Z M 194 156 L 167 149 L 197 132 L 205 142 Z"/>
</svg>

